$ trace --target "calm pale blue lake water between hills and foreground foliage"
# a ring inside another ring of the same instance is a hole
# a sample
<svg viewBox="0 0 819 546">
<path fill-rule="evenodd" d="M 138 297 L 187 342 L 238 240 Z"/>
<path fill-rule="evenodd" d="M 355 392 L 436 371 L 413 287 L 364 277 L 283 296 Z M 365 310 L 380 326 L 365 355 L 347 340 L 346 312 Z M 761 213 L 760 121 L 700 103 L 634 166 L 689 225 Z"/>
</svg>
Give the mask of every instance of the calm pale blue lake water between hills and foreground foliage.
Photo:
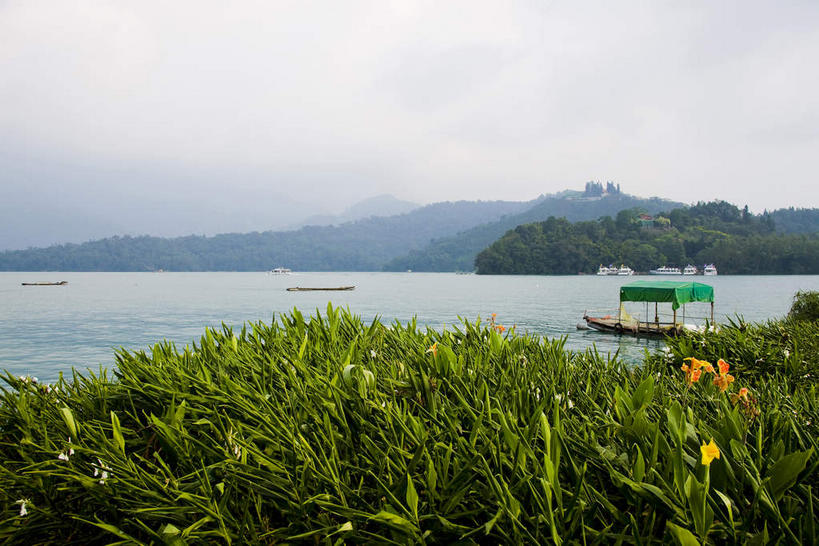
<svg viewBox="0 0 819 546">
<path fill-rule="evenodd" d="M 636 361 L 656 340 L 577 330 L 584 309 L 617 306 L 619 287 L 638 278 L 478 276 L 448 273 L 20 273 L 0 272 L 0 369 L 53 381 L 71 367 L 111 368 L 114 351 L 146 349 L 168 339 L 183 346 L 206 327 L 270 322 L 294 307 L 305 314 L 328 302 L 365 321 L 380 317 L 435 329 L 459 317 L 497 321 L 518 331 L 567 337 L 567 346 L 596 345 Z M 657 277 L 652 277 L 657 279 Z M 681 280 L 681 277 L 677 277 Z M 760 321 L 787 313 L 797 290 L 819 290 L 819 276 L 686 277 L 714 287 L 717 321 L 741 315 Z M 65 286 L 21 286 L 66 280 Z M 349 292 L 287 292 L 289 286 L 355 285 Z M 642 310 L 635 304 L 634 310 Z M 688 306 L 704 316 L 707 304 Z M 653 309 L 651 315 L 653 316 Z"/>
</svg>

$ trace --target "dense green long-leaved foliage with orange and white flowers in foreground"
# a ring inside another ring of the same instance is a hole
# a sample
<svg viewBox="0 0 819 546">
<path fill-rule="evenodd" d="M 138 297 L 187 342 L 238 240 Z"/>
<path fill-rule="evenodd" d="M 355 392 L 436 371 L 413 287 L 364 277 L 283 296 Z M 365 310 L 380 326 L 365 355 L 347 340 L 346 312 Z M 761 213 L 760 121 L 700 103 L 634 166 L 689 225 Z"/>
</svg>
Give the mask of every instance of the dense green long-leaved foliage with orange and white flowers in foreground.
<svg viewBox="0 0 819 546">
<path fill-rule="evenodd" d="M 817 328 L 629 368 L 328 308 L 120 352 L 113 377 L 9 376 L 0 541 L 815 544 Z M 705 355 L 730 373 L 680 369 Z"/>
</svg>

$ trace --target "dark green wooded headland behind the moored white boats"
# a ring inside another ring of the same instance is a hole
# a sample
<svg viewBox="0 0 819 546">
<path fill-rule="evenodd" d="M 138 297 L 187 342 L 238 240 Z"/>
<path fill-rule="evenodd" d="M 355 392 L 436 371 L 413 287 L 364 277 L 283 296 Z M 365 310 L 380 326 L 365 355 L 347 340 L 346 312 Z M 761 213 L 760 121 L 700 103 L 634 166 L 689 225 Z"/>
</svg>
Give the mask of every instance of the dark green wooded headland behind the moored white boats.
<svg viewBox="0 0 819 546">
<path fill-rule="evenodd" d="M 600 264 L 637 271 L 660 265 L 714 263 L 720 274 L 819 274 L 819 235 L 780 234 L 771 214 L 725 202 L 700 203 L 641 218 L 520 225 L 475 259 L 480 274 L 594 273 Z"/>
</svg>

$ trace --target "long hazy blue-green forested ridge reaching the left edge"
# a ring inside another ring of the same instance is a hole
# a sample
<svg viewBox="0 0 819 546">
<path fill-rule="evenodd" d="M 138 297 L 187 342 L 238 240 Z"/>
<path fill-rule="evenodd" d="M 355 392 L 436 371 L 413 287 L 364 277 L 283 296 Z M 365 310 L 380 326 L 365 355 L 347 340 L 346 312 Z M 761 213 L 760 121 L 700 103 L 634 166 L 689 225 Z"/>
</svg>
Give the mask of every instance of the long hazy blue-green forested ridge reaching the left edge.
<svg viewBox="0 0 819 546">
<path fill-rule="evenodd" d="M 454 234 L 535 201 L 458 201 L 406 214 L 373 217 L 340 226 L 295 231 L 188 236 L 111 237 L 0 252 L 5 271 L 378 271 L 388 260 L 420 248 L 433 237 Z"/>
</svg>

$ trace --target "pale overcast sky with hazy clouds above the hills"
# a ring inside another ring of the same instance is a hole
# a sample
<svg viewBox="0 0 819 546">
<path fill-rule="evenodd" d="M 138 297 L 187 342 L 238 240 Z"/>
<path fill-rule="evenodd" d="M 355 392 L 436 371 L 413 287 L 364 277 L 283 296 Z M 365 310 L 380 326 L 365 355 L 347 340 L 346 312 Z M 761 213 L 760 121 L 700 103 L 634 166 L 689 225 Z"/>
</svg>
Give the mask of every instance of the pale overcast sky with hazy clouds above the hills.
<svg viewBox="0 0 819 546">
<path fill-rule="evenodd" d="M 589 180 L 817 207 L 817 58 L 815 0 L 0 0 L 0 248 Z"/>
</svg>

